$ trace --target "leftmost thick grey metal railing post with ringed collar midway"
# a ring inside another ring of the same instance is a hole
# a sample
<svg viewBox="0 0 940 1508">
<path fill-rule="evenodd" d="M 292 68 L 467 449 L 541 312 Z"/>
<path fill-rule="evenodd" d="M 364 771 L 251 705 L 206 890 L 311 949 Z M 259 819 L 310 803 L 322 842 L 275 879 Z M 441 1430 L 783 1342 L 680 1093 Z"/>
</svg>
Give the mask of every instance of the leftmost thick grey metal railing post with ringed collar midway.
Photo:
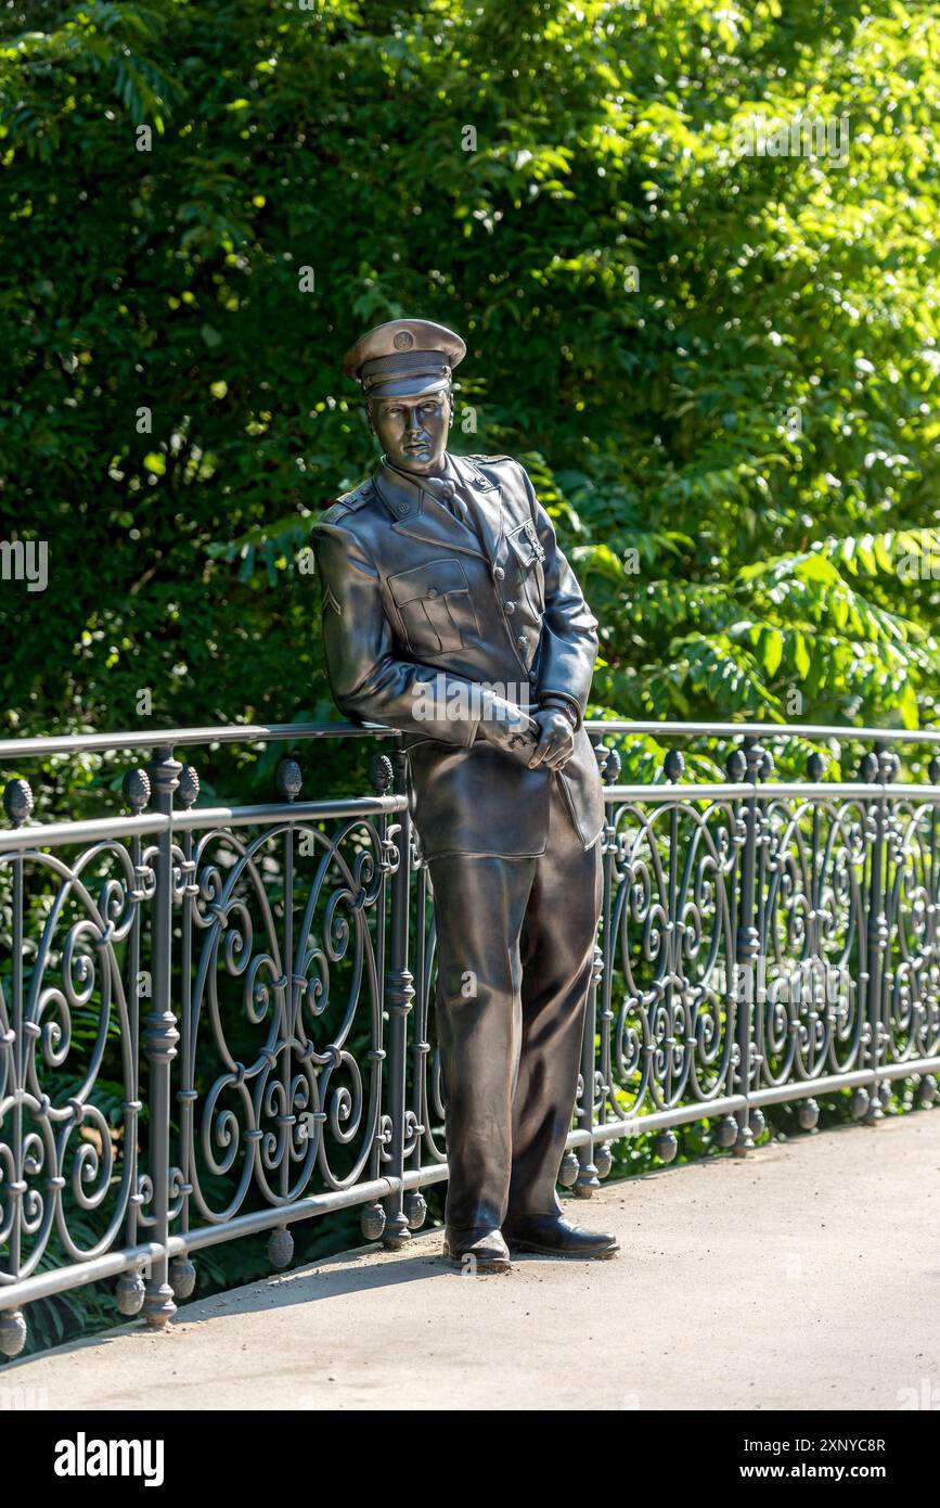
<svg viewBox="0 0 940 1508">
<path fill-rule="evenodd" d="M 170 745 L 154 751 L 151 786 L 154 808 L 164 816 L 173 816 L 173 792 L 179 784 L 182 765 L 173 759 Z M 173 1315 L 173 1289 L 169 1280 L 167 1241 L 170 1234 L 170 1065 L 176 1057 L 179 1031 L 172 1003 L 173 980 L 173 825 L 167 823 L 157 840 L 157 890 L 154 893 L 154 915 L 151 924 L 152 950 L 152 997 L 151 1012 L 145 1021 L 143 1047 L 149 1063 L 151 1107 L 151 1184 L 154 1190 L 151 1206 L 152 1238 L 163 1247 L 163 1255 L 151 1265 L 143 1300 L 143 1313 L 154 1330 L 164 1330 Z"/>
</svg>

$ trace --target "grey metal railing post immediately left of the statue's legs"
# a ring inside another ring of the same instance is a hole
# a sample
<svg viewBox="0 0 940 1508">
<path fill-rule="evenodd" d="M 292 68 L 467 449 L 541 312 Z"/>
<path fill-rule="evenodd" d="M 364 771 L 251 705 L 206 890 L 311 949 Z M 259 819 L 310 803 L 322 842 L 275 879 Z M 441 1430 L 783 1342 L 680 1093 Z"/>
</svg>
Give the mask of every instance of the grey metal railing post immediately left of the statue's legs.
<svg viewBox="0 0 940 1508">
<path fill-rule="evenodd" d="M 408 756 L 404 749 L 398 749 L 395 754 L 395 790 L 396 795 L 407 795 L 408 790 Z M 401 1179 L 405 1172 L 407 1022 L 414 1000 L 414 980 L 408 973 L 411 814 L 407 807 L 398 817 L 395 847 L 398 864 L 392 875 L 392 936 L 390 968 L 386 974 L 386 1010 L 389 1012 L 389 1161 L 392 1176 Z M 411 1237 L 401 1185 L 395 1193 L 386 1196 L 384 1206 L 383 1246 L 396 1252 Z"/>
</svg>

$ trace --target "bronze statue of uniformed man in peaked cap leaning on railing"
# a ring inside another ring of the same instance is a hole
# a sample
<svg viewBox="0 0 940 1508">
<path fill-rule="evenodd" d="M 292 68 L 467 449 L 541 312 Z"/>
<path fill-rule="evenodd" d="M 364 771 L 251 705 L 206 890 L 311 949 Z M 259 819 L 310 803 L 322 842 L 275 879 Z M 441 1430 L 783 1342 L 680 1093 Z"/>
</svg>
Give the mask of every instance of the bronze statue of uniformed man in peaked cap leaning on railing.
<svg viewBox="0 0 940 1508">
<path fill-rule="evenodd" d="M 336 704 L 408 749 L 437 927 L 444 1250 L 508 1271 L 511 1249 L 618 1250 L 556 1191 L 601 911 L 583 727 L 598 639 L 523 466 L 446 448 L 464 353 L 428 320 L 352 345 L 383 457 L 312 538 Z"/>
</svg>

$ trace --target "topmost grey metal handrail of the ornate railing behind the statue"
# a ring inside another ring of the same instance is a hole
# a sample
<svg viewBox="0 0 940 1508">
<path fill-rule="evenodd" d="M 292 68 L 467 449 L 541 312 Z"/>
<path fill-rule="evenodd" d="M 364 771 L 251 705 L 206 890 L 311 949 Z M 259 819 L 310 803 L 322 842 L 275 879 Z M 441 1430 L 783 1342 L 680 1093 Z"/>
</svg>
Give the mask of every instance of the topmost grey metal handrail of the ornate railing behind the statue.
<svg viewBox="0 0 940 1508">
<path fill-rule="evenodd" d="M 670 722 L 627 718 L 588 718 L 597 734 L 652 734 L 654 737 L 804 737 L 845 739 L 853 743 L 934 743 L 940 728 L 868 728 L 821 722 Z M 92 754 L 118 749 L 184 748 L 199 743 L 274 743 L 300 739 L 399 737 L 383 722 L 232 722 L 205 728 L 136 728 L 121 733 L 65 733 L 50 737 L 0 739 L 0 760 L 42 759 L 47 754 Z"/>
</svg>

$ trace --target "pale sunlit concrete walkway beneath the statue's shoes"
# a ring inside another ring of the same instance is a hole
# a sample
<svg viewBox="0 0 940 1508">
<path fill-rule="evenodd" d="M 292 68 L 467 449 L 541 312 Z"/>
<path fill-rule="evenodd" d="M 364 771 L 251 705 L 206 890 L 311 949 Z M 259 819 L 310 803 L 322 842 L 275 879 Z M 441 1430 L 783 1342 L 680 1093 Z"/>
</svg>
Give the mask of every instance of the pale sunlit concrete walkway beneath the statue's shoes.
<svg viewBox="0 0 940 1508">
<path fill-rule="evenodd" d="M 0 1369 L 80 1408 L 940 1408 L 940 1110 L 612 1184 L 606 1262 L 362 1247 Z M 194 1258 L 199 1264 L 199 1253 Z"/>
</svg>

